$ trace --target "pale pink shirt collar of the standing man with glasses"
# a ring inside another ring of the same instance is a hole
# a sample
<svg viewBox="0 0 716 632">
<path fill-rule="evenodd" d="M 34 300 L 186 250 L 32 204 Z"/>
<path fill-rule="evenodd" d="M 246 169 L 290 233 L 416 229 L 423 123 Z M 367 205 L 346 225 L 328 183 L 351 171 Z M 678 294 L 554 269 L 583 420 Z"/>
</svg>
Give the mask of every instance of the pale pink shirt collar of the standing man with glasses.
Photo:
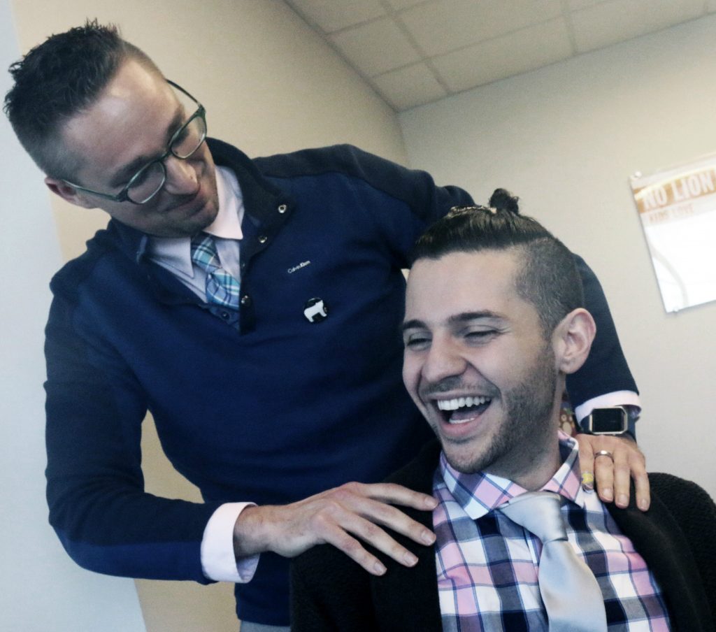
<svg viewBox="0 0 716 632">
<path fill-rule="evenodd" d="M 219 210 L 216 218 L 203 232 L 216 237 L 241 239 L 243 198 L 236 174 L 228 167 L 216 167 L 216 192 Z M 150 237 L 147 245 L 150 258 L 160 259 L 186 276 L 194 276 L 191 262 L 191 239 L 188 237 Z"/>
</svg>

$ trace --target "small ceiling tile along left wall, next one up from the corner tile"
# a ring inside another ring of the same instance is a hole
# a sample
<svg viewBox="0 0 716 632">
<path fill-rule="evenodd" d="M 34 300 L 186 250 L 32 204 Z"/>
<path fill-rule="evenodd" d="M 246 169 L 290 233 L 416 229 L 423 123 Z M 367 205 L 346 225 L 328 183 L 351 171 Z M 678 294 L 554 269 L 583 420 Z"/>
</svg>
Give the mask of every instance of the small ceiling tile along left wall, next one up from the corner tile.
<svg viewBox="0 0 716 632">
<path fill-rule="evenodd" d="M 420 59 L 420 54 L 390 18 L 356 26 L 329 38 L 349 62 L 368 77 L 407 66 Z"/>
</svg>

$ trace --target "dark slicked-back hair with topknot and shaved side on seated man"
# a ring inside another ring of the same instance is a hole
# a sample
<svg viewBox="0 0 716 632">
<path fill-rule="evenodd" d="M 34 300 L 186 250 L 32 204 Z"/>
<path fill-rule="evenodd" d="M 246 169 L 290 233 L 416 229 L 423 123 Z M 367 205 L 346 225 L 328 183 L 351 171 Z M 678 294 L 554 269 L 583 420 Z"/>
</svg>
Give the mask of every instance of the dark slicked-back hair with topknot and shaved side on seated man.
<svg viewBox="0 0 716 632">
<path fill-rule="evenodd" d="M 411 261 L 513 249 L 518 296 L 536 308 L 548 339 L 564 316 L 584 307 L 584 290 L 574 255 L 537 220 L 519 215 L 518 199 L 497 189 L 489 207 L 454 207 L 417 240 Z"/>
</svg>

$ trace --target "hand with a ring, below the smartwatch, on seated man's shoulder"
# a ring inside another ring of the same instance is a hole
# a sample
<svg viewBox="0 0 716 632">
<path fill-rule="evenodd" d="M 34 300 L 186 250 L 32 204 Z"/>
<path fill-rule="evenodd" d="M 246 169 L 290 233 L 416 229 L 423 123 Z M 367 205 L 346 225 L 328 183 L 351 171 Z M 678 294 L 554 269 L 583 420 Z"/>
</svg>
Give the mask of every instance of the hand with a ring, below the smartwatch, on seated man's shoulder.
<svg viewBox="0 0 716 632">
<path fill-rule="evenodd" d="M 579 434 L 579 466 L 582 477 L 594 472 L 596 491 L 604 502 L 629 505 L 629 475 L 634 478 L 637 507 L 649 509 L 649 477 L 644 454 L 629 435 Z M 611 458 L 599 452 L 609 452 Z M 616 500 L 615 500 L 616 499 Z"/>
</svg>

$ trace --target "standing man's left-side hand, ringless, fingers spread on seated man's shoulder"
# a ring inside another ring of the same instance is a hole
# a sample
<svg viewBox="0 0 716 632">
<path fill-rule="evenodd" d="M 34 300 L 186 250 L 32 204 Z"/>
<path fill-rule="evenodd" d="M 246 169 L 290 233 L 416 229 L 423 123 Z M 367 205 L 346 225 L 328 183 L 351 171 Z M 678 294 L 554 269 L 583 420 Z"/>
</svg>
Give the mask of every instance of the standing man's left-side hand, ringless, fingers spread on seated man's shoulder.
<svg viewBox="0 0 716 632">
<path fill-rule="evenodd" d="M 392 505 L 431 511 L 437 502 L 392 483 L 351 482 L 291 505 L 246 507 L 234 526 L 234 553 L 241 558 L 271 550 L 293 558 L 316 544 L 331 544 L 369 573 L 382 575 L 386 569 L 364 548 L 368 543 L 402 565 L 415 565 L 415 555 L 382 527 L 426 546 L 435 534 Z"/>
</svg>

